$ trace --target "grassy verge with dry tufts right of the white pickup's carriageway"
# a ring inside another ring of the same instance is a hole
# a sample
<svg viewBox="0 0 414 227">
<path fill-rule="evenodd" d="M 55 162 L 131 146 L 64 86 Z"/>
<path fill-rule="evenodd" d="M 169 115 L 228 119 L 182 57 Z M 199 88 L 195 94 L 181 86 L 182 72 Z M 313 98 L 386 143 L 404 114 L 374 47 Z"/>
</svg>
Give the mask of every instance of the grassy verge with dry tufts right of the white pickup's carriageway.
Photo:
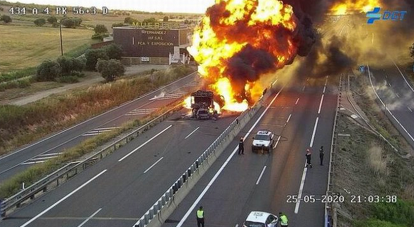
<svg viewBox="0 0 414 227">
<path fill-rule="evenodd" d="M 401 154 L 374 134 L 359 127 L 349 117 L 339 114 L 333 191 L 346 197 L 339 204 L 339 227 L 412 227 L 414 226 L 413 160 L 402 158 L 411 148 L 393 129 L 371 97 L 367 78 L 353 79 L 352 91 L 358 105 L 377 129 L 393 139 Z M 397 203 L 351 203 L 355 196 L 397 196 Z"/>
</svg>

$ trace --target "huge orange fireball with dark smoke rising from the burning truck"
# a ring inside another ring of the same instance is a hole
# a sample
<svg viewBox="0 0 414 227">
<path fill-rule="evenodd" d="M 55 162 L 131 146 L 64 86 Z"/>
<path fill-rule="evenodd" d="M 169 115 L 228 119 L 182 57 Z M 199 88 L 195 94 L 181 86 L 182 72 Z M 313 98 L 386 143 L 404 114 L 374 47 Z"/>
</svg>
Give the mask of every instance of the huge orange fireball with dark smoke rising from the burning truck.
<svg viewBox="0 0 414 227">
<path fill-rule="evenodd" d="M 279 0 L 216 0 L 193 35 L 189 53 L 222 109 L 244 111 L 262 95 L 260 76 L 297 54 L 298 19 Z"/>
</svg>

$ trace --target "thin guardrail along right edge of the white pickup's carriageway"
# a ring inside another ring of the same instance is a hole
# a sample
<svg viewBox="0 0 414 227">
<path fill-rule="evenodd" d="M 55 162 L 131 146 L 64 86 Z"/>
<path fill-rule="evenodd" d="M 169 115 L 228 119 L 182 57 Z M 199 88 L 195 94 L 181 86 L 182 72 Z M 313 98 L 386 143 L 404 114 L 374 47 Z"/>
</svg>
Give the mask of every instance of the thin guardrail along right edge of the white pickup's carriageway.
<svg viewBox="0 0 414 227">
<path fill-rule="evenodd" d="M 339 77 L 339 94 L 337 97 L 337 105 L 335 110 L 335 118 L 334 118 L 334 125 L 332 128 L 332 140 L 331 140 L 331 151 L 330 151 L 330 158 L 329 158 L 329 171 L 328 171 L 328 183 L 326 187 L 326 196 L 330 196 L 332 194 L 331 185 L 332 185 L 332 174 L 334 173 L 333 170 L 333 155 L 335 154 L 336 148 L 336 125 L 338 121 L 338 110 L 339 110 L 339 100 L 342 98 L 342 75 Z M 328 205 L 325 203 L 325 227 L 332 227 L 334 224 L 332 223 L 332 203 Z"/>
</svg>

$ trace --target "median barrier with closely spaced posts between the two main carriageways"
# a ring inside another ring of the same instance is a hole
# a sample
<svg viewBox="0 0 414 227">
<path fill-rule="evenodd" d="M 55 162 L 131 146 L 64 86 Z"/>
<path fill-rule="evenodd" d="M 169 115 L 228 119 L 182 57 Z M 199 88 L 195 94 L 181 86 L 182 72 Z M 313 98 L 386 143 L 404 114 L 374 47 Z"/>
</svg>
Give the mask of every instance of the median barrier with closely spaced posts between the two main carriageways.
<svg viewBox="0 0 414 227">
<path fill-rule="evenodd" d="M 270 86 L 270 88 L 272 88 L 272 86 Z M 204 163 L 208 162 L 209 157 L 215 153 L 220 144 L 228 139 L 231 132 L 235 130 L 239 122 L 245 120 L 249 121 L 256 114 L 256 112 L 258 112 L 258 110 L 262 107 L 264 100 L 266 100 L 269 96 L 270 92 L 266 92 L 265 95 L 262 96 L 262 98 L 258 101 L 258 103 L 256 103 L 253 108 L 244 111 L 239 117 L 231 122 L 229 127 L 227 127 L 220 134 L 220 136 L 200 155 L 200 157 L 197 158 L 197 160 L 181 175 L 181 177 L 179 177 L 176 182 L 174 182 L 174 184 L 168 188 L 168 190 L 159 198 L 159 200 L 156 201 L 144 215 L 142 215 L 134 227 L 147 226 L 157 216 L 157 214 L 160 213 L 164 206 L 168 206 L 168 203 L 174 200 L 174 195 L 176 195 L 177 192 L 183 188 L 183 186 L 185 186 L 189 180 L 191 180 L 190 178 L 193 176 L 193 174 L 195 174 L 195 172 L 199 170 Z"/>
</svg>

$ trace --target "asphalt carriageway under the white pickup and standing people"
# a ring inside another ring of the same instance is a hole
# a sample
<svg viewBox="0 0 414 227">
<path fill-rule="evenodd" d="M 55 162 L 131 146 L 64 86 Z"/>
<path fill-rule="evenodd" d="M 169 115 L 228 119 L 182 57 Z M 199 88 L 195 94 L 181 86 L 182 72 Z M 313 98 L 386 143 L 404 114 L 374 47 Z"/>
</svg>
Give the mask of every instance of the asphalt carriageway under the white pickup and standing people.
<svg viewBox="0 0 414 227">
<path fill-rule="evenodd" d="M 323 226 L 325 204 L 306 203 L 304 198 L 320 199 L 326 193 L 337 79 L 332 78 L 327 86 L 306 84 L 304 90 L 302 85 L 284 88 L 262 119 L 258 121 L 256 116 L 246 126 L 239 134 L 247 136 L 245 155 L 237 154 L 238 141 L 234 140 L 163 227 L 196 226 L 195 211 L 200 205 L 206 226 L 241 226 L 253 210 L 275 215 L 284 212 L 289 226 Z M 251 134 L 246 135 L 249 129 Z M 270 155 L 251 152 L 252 137 L 259 129 L 278 135 L 279 142 Z M 325 146 L 323 166 L 319 163 L 320 146 Z M 309 147 L 313 150 L 311 169 L 305 168 Z"/>
</svg>

